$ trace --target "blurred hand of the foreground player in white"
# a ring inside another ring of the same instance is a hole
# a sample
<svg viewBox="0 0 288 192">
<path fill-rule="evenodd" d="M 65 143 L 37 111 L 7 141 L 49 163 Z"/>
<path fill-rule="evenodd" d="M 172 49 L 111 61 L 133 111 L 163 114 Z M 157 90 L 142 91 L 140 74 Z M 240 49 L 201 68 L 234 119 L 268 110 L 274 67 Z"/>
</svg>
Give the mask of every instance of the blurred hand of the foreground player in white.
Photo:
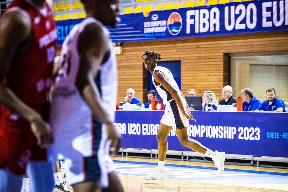
<svg viewBox="0 0 288 192">
<path fill-rule="evenodd" d="M 115 156 L 121 146 L 121 136 L 118 134 L 112 122 L 105 123 L 105 125 L 106 125 L 107 139 L 111 140 L 110 147 L 114 148 L 111 155 Z"/>
</svg>

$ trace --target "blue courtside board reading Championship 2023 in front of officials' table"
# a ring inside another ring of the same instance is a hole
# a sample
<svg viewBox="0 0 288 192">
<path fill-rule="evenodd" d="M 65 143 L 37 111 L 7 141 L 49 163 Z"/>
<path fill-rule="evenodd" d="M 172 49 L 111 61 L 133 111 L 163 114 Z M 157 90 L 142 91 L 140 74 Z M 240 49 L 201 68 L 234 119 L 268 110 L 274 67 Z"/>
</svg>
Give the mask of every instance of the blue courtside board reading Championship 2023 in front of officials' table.
<svg viewBox="0 0 288 192">
<path fill-rule="evenodd" d="M 158 149 L 156 135 L 164 111 L 116 111 L 115 126 L 122 147 Z M 265 112 L 194 111 L 189 137 L 211 150 L 228 154 L 288 157 L 288 114 Z M 183 147 L 175 132 L 168 136 L 168 150 Z"/>
</svg>

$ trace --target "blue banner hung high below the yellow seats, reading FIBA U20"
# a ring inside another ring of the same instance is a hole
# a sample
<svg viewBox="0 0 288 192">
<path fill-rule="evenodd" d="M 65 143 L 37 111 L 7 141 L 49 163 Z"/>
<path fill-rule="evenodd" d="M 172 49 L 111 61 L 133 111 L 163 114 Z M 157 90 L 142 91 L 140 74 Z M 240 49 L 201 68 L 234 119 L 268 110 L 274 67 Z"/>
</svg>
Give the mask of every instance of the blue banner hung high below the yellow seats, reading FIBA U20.
<svg viewBox="0 0 288 192">
<path fill-rule="evenodd" d="M 113 42 L 288 30 L 288 1 L 261 0 L 124 14 L 108 28 Z M 56 21 L 58 45 L 83 19 Z"/>
</svg>

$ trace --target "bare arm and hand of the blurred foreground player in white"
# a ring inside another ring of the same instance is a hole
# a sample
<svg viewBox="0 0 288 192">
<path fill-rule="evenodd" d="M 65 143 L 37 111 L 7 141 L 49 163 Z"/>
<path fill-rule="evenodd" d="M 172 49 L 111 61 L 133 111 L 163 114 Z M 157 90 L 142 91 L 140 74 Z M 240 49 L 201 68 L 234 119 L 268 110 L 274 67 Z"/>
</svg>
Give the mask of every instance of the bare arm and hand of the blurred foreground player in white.
<svg viewBox="0 0 288 192">
<path fill-rule="evenodd" d="M 110 51 L 107 32 L 96 23 L 86 26 L 79 36 L 78 51 L 80 66 L 76 86 L 93 115 L 106 124 L 108 139 L 111 140 L 111 146 L 116 147 L 116 152 L 119 149 L 120 136 L 101 105 L 100 93 L 94 81 L 95 74 L 93 74 L 99 70 L 105 53 Z"/>
</svg>

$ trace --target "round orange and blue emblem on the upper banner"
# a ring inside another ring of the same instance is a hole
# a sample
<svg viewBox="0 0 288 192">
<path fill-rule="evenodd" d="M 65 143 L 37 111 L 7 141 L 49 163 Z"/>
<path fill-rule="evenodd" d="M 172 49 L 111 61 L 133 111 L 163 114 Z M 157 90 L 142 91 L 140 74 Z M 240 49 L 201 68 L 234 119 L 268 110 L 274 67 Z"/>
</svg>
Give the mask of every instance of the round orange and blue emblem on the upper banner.
<svg viewBox="0 0 288 192">
<path fill-rule="evenodd" d="M 182 28 L 182 18 L 177 12 L 170 14 L 167 22 L 167 28 L 171 35 L 178 35 Z"/>
</svg>

